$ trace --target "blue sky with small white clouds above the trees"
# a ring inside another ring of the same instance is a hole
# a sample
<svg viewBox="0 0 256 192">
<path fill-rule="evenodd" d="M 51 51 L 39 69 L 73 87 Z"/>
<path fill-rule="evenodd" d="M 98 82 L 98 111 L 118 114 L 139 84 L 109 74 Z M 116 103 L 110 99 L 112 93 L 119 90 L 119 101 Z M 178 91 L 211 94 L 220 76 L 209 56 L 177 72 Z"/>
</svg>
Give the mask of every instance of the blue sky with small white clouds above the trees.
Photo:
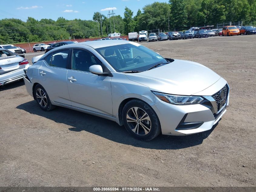
<svg viewBox="0 0 256 192">
<path fill-rule="evenodd" d="M 124 16 L 125 6 L 136 15 L 138 9 L 156 0 L 24 0 L 2 1 L 0 7 L 0 19 L 16 18 L 26 21 L 28 17 L 35 19 L 53 19 L 64 17 L 65 19 L 92 19 L 94 12 L 108 14 L 108 9 L 114 9 L 116 15 Z M 168 2 L 168 0 L 158 0 Z M 105 10 L 105 11 L 104 11 Z"/>
</svg>

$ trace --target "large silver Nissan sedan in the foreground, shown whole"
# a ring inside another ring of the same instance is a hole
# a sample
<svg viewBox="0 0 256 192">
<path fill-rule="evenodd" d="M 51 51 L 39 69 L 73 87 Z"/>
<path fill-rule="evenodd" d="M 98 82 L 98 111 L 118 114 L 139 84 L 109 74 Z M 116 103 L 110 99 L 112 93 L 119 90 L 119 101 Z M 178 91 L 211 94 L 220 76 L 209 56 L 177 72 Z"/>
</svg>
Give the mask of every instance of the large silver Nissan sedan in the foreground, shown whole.
<svg viewBox="0 0 256 192">
<path fill-rule="evenodd" d="M 24 81 L 45 111 L 62 106 L 100 116 L 146 141 L 210 130 L 229 102 L 227 82 L 211 69 L 122 40 L 53 49 Z"/>
</svg>

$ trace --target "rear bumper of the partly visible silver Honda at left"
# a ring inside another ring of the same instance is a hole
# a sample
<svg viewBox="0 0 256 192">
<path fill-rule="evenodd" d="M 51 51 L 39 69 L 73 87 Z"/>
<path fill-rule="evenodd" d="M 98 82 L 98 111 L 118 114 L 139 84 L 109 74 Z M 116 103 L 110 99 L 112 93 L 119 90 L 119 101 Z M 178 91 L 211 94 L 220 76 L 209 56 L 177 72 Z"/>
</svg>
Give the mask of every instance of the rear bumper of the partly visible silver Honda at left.
<svg viewBox="0 0 256 192">
<path fill-rule="evenodd" d="M 0 75 L 0 85 L 5 85 L 8 83 L 12 83 L 14 81 L 18 81 L 19 79 L 22 79 L 23 76 L 25 75 L 24 69 L 28 69 L 29 66 L 30 66 L 29 64 L 26 64 L 25 68 Z"/>
</svg>

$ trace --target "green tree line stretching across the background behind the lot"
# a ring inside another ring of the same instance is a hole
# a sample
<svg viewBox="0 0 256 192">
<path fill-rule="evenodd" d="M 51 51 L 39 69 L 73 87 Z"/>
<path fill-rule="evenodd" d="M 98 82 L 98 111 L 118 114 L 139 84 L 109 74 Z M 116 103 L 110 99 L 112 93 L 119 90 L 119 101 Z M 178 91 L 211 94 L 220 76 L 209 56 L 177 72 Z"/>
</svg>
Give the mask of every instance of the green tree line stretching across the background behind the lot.
<svg viewBox="0 0 256 192">
<path fill-rule="evenodd" d="M 109 33 L 171 28 L 185 29 L 190 26 L 215 25 L 222 22 L 256 21 L 255 0 L 169 0 L 154 2 L 138 9 L 135 15 L 125 7 L 124 15 L 110 18 L 95 12 L 92 20 L 67 20 L 59 17 L 41 19 L 28 17 L 0 20 L 0 41 L 5 43 L 44 42 L 64 39 L 105 37 Z"/>
</svg>

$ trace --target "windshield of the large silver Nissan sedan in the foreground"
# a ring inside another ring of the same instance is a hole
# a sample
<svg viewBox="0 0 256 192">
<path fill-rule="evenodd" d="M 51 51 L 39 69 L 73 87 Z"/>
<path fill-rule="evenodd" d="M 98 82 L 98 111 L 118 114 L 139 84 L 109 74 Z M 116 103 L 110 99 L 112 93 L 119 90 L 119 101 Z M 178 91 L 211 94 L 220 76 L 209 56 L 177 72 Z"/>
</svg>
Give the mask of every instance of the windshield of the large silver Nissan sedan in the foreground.
<svg viewBox="0 0 256 192">
<path fill-rule="evenodd" d="M 146 71 L 157 63 L 169 63 L 142 45 L 127 43 L 95 49 L 117 72 Z"/>
</svg>

